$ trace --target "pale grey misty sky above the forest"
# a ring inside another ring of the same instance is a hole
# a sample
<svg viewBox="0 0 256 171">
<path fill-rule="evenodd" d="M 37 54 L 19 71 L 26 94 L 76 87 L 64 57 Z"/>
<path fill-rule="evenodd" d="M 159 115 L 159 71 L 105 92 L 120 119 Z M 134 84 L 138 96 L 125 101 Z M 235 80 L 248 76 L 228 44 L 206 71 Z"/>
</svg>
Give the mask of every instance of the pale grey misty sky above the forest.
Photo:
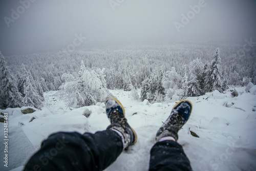
<svg viewBox="0 0 256 171">
<path fill-rule="evenodd" d="M 29 7 L 24 8 L 20 1 Z M 76 34 L 87 37 L 87 42 L 174 36 L 256 37 L 255 0 L 205 0 L 195 16 L 190 6 L 202 0 L 113 0 L 121 2 L 114 10 L 109 0 L 20 1 L 0 2 L 3 55 L 60 50 L 72 44 Z M 174 23 L 182 24 L 182 14 L 188 13 L 189 23 L 178 32 Z"/>
</svg>

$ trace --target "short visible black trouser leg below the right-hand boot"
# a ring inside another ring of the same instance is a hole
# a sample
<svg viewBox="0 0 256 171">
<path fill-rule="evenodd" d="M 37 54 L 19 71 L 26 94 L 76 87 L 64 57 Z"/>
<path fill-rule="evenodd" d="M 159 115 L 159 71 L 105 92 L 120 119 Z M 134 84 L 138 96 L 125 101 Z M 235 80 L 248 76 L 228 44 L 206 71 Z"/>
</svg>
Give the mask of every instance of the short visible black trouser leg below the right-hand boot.
<svg viewBox="0 0 256 171">
<path fill-rule="evenodd" d="M 192 170 L 182 146 L 175 141 L 157 142 L 151 149 L 150 171 Z"/>
</svg>

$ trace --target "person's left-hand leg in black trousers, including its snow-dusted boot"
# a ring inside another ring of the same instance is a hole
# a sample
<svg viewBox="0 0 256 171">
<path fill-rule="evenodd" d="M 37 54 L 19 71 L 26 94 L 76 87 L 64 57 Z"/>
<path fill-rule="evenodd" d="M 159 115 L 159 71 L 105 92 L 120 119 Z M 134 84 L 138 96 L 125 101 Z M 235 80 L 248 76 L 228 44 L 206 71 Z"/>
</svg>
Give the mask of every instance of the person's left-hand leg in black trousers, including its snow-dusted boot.
<svg viewBox="0 0 256 171">
<path fill-rule="evenodd" d="M 115 98 L 105 104 L 111 121 L 106 131 L 95 134 L 56 133 L 42 142 L 25 170 L 103 170 L 113 163 L 123 148 L 137 141 L 127 123 L 124 108 Z"/>
</svg>

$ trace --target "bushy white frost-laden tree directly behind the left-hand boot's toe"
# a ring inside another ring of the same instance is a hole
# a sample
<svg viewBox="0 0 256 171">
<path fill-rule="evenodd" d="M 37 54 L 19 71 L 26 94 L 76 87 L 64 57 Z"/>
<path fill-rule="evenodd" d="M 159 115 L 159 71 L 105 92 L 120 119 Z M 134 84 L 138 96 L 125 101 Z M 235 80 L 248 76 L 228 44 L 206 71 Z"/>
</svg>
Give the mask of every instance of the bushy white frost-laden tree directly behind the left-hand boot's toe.
<svg viewBox="0 0 256 171">
<path fill-rule="evenodd" d="M 63 74 L 61 79 L 65 79 L 63 77 L 66 77 L 66 82 L 59 87 L 59 95 L 69 107 L 80 108 L 97 102 L 104 102 L 109 97 L 113 97 L 103 86 L 100 76 L 94 70 L 87 70 L 83 61 L 81 61 L 77 78 L 72 78 L 67 74 Z"/>
</svg>

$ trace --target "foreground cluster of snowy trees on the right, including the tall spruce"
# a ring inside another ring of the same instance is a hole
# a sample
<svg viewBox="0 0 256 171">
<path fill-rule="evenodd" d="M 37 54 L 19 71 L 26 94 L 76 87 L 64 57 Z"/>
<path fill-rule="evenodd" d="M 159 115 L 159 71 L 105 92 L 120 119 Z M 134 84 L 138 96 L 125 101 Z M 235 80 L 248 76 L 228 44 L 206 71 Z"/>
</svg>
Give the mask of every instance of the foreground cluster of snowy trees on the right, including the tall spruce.
<svg viewBox="0 0 256 171">
<path fill-rule="evenodd" d="M 172 67 L 169 71 L 153 72 L 142 82 L 141 100 L 162 102 L 181 100 L 218 90 L 225 91 L 228 77 L 221 71 L 219 49 L 210 62 L 202 63 L 197 58 L 177 71 Z"/>
</svg>

